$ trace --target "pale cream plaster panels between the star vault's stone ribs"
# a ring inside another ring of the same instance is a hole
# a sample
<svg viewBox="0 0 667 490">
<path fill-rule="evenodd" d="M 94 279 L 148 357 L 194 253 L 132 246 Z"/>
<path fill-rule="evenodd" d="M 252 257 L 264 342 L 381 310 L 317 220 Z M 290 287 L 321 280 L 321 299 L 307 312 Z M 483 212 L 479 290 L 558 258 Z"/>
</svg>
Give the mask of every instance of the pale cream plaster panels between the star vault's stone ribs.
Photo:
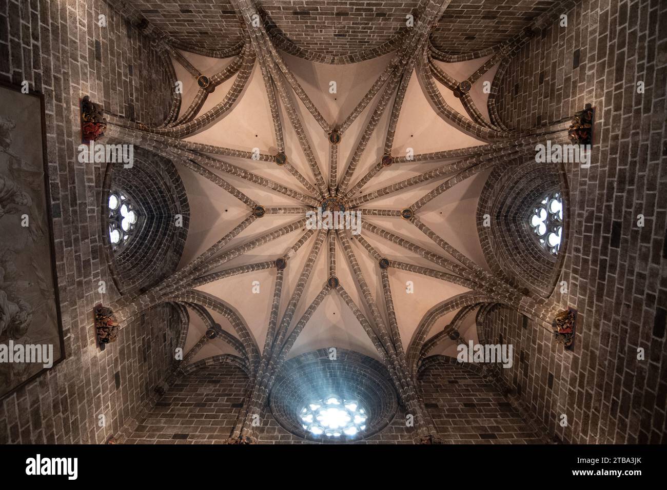
<svg viewBox="0 0 667 490">
<path fill-rule="evenodd" d="M 216 73 L 231 62 L 224 59 L 207 59 L 200 55 L 185 52 L 183 55 L 191 61 L 193 66 L 201 69 L 203 73 Z M 295 75 L 299 85 L 303 87 L 308 97 L 313 101 L 315 107 L 317 107 L 317 110 L 327 123 L 330 123 L 332 127 L 336 127 L 341 125 L 352 109 L 362 100 L 368 89 L 370 89 L 370 86 L 388 65 L 392 55 L 386 55 L 353 65 L 344 65 L 342 67 L 328 67 L 327 65 L 304 61 L 290 55 L 283 55 L 283 57 L 287 67 Z M 448 67 L 448 71 L 457 77 L 464 78 L 473 73 L 480 65 L 484 64 L 487 58 L 484 57 L 463 63 L 452 63 L 453 66 Z M 445 64 L 443 63 L 442 65 L 444 66 Z M 185 85 L 185 93 L 183 95 L 183 105 L 187 107 L 194 97 L 196 91 L 195 83 L 183 67 L 176 65 L 175 68 L 179 79 L 189 80 Z M 233 79 L 229 79 L 219 87 L 216 87 L 215 92 L 208 97 L 206 103 L 203 105 L 201 112 L 211 109 L 222 101 L 225 95 L 227 95 L 233 81 Z M 337 93 L 329 93 L 329 81 L 337 81 Z M 457 107 L 460 112 L 465 113 L 464 107 L 452 95 L 451 91 L 447 93 L 444 87 L 440 87 L 440 89 L 450 104 Z M 482 95 L 480 91 L 480 93 L 476 93 L 475 97 L 478 99 L 479 107 L 484 108 L 486 107 L 486 100 L 484 100 Z M 303 127 L 311 142 L 315 159 L 321 167 L 324 180 L 328 181 L 330 145 L 326 134 L 323 133 L 319 125 L 314 124 L 311 115 L 303 106 L 299 105 L 299 109 L 299 119 L 304 122 Z M 360 135 L 363 133 L 366 125 L 368 125 L 372 109 L 374 109 L 372 104 L 364 109 L 356 121 L 350 125 L 350 128 L 346 131 L 341 143 L 338 145 L 339 174 L 342 173 L 347 162 L 354 154 Z M 372 137 L 370 137 L 367 149 L 360 157 L 358 170 L 354 174 L 352 183 L 356 183 L 360 177 L 364 176 L 382 158 L 385 128 L 389 119 L 388 112 L 382 117 L 378 131 L 375 131 Z M 309 175 L 311 170 L 301 152 L 296 135 L 289 125 L 285 125 L 284 129 L 285 154 L 289 155 L 290 163 L 301 175 Z M 273 136 L 271 111 L 261 79 L 261 72 L 257 69 L 253 71 L 249 77 L 243 96 L 223 119 L 217 121 L 204 131 L 188 137 L 187 141 L 228 147 L 239 151 L 251 151 L 254 147 L 257 147 L 262 153 L 269 155 L 277 153 L 278 149 Z M 398 118 L 394 141 L 395 150 L 392 154 L 395 156 L 405 155 L 408 148 L 412 148 L 414 153 L 420 154 L 470 147 L 483 143 L 452 128 L 452 126 L 448 125 L 433 111 L 414 73 L 406 91 L 404 107 Z M 309 195 L 309 191 L 303 185 L 290 175 L 290 173 L 285 171 L 285 169 L 275 165 L 275 163 L 234 157 L 225 157 L 225 161 L 243 167 L 258 175 L 263 175 L 291 189 L 296 189 L 305 195 Z M 370 181 L 364 187 L 363 191 L 356 194 L 370 193 L 376 189 L 381 189 L 392 183 L 400 182 L 440 166 L 442 166 L 442 160 L 392 165 L 388 169 L 383 169 L 382 173 Z M 247 217 L 248 211 L 247 207 L 235 199 L 235 197 L 221 192 L 215 183 L 188 169 L 183 167 L 180 169 L 192 210 L 188 239 L 181 259 L 181 267 L 183 267 L 205 252 L 220 237 L 225 236 L 241 223 Z M 484 255 L 477 235 L 476 207 L 480 191 L 487 176 L 488 171 L 485 171 L 455 185 L 452 189 L 446 193 L 442 193 L 428 203 L 419 215 L 420 219 L 428 227 L 433 229 L 438 235 L 446 237 L 456 249 L 465 253 L 484 269 L 488 269 L 488 266 L 484 261 Z M 295 201 L 295 199 L 290 199 L 280 193 L 253 185 L 240 177 L 225 176 L 225 179 L 265 207 L 295 207 L 299 205 L 299 202 Z M 414 201 L 424 196 L 440 183 L 442 183 L 442 179 L 416 186 L 417 188 L 405 189 L 405 191 L 400 193 L 392 193 L 386 197 L 374 199 L 374 201 L 369 203 L 368 207 L 375 209 L 402 209 L 414 203 Z M 317 201 L 320 200 L 319 195 L 313 197 Z M 261 219 L 257 219 L 252 225 L 239 233 L 237 237 L 229 242 L 227 247 L 233 249 L 236 245 L 261 237 L 268 231 L 279 229 L 301 217 L 301 215 L 266 215 Z M 364 222 L 375 223 L 384 229 L 392 231 L 392 233 L 406 237 L 410 241 L 434 251 L 434 253 L 442 252 L 442 250 L 438 252 L 438 247 L 434 246 L 434 243 L 426 235 L 416 233 L 418 230 L 410 221 L 400 219 L 400 217 L 366 217 L 363 211 L 362 220 Z M 225 263 L 219 267 L 219 270 L 247 263 L 275 260 L 277 257 L 283 255 L 304 233 L 305 230 L 301 227 L 279 239 L 253 249 L 251 253 L 244 254 Z M 384 257 L 392 261 L 407 261 L 424 267 L 434 265 L 430 261 L 420 257 L 420 255 L 410 253 L 399 245 L 390 243 L 366 230 L 362 231 L 362 236 L 369 243 L 372 243 L 373 247 L 378 249 L 378 251 L 381 251 Z M 301 267 L 303 267 L 303 263 L 314 242 L 315 234 L 309 237 L 309 240 L 289 261 L 289 267 L 286 269 L 285 274 L 285 282 L 283 283 L 281 313 L 290 299 L 289 293 L 295 289 L 299 273 L 301 273 Z M 361 295 L 361 291 L 358 291 L 358 288 L 354 286 L 356 283 L 354 273 L 350 271 L 341 245 L 340 241 L 338 241 L 336 247 L 336 275 L 342 285 L 346 287 L 355 303 L 363 305 L 364 298 Z M 377 260 L 364 247 L 358 245 L 354 239 L 352 239 L 352 245 L 356 259 L 359 261 L 362 271 L 364 271 L 366 281 L 368 281 L 370 291 L 372 291 L 374 297 L 378 298 L 378 301 L 382 301 L 382 283 L 377 273 Z M 319 293 L 329 276 L 329 260 L 327 259 L 326 252 L 327 247 L 323 245 L 313 266 L 313 271 L 309 274 L 307 289 L 294 315 L 295 320 L 303 314 L 306 307 L 315 299 L 315 296 Z M 394 291 L 394 305 L 398 317 L 398 325 L 401 329 L 404 345 L 410 343 L 419 321 L 429 309 L 454 295 L 468 291 L 465 287 L 443 283 L 439 279 L 417 275 L 408 271 L 396 271 L 396 273 L 392 271 L 390 277 L 392 291 Z M 253 293 L 253 281 L 259 281 L 259 293 Z M 414 283 L 414 291 L 416 293 L 406 292 L 407 281 Z M 209 283 L 199 289 L 233 305 L 241 317 L 245 319 L 257 344 L 263 345 L 269 325 L 274 282 L 275 270 L 265 269 L 243 276 L 227 277 L 221 281 Z M 446 325 L 446 320 L 447 318 L 444 317 L 441 321 L 438 321 L 434 325 L 434 330 L 442 329 Z M 385 321 L 388 321 L 388 319 L 385 318 Z M 233 332 L 233 330 L 231 331 Z M 197 331 L 196 334 L 192 333 L 191 335 L 201 336 L 203 333 Z M 474 333 L 473 338 L 476 339 L 476 333 Z M 194 341 L 191 339 L 191 342 L 193 343 Z M 360 325 L 350 309 L 336 294 L 329 294 L 325 297 L 313 314 L 313 317 L 309 320 L 303 333 L 299 335 L 297 342 L 289 353 L 289 357 L 304 351 L 331 346 L 343 347 L 360 351 L 371 357 L 378 357 L 378 352 L 368 335 L 362 329 L 362 325 Z M 440 347 L 446 348 L 447 345 L 444 344 Z M 433 353 L 438 352 L 434 351 Z M 207 352 L 206 354 L 208 355 L 209 353 Z M 204 353 L 199 354 L 193 360 L 202 357 L 204 357 Z"/>
</svg>

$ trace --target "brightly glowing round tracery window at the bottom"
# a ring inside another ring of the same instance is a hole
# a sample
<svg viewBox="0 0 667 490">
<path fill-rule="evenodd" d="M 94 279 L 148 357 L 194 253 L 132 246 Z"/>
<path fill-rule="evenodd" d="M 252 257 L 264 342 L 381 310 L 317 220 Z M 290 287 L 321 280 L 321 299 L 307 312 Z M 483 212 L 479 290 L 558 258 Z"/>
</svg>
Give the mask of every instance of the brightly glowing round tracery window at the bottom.
<svg viewBox="0 0 667 490">
<path fill-rule="evenodd" d="M 336 395 L 311 401 L 301 409 L 301 427 L 312 435 L 353 437 L 366 429 L 366 410 L 356 401 Z"/>
</svg>

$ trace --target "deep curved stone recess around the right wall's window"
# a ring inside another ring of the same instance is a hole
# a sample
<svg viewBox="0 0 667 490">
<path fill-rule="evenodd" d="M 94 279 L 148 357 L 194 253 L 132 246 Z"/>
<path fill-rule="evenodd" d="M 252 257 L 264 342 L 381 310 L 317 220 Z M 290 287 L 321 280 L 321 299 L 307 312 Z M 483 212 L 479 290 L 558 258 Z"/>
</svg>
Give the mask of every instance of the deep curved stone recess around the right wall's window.
<svg viewBox="0 0 667 490">
<path fill-rule="evenodd" d="M 530 215 L 544 196 L 560 192 L 564 203 L 563 238 L 550 255 L 534 237 Z M 527 293 L 549 297 L 567 251 L 568 185 L 562 164 L 514 159 L 489 175 L 477 209 L 480 244 L 489 267 Z"/>
</svg>

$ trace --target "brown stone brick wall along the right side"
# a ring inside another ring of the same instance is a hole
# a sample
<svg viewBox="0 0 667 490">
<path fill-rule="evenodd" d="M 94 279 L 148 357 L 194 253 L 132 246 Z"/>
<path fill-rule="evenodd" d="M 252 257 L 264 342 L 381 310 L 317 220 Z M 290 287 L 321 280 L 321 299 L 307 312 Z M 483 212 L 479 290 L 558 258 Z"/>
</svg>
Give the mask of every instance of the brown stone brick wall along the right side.
<svg viewBox="0 0 667 490">
<path fill-rule="evenodd" d="M 596 108 L 592 165 L 568 164 L 559 280 L 562 303 L 579 311 L 575 351 L 519 330 L 532 354 L 512 374 L 535 414 L 572 443 L 667 440 L 666 10 L 659 0 L 581 1 L 568 27 L 554 23 L 521 49 L 497 99 L 502 119 L 520 129 Z M 492 321 L 511 337 L 522 320 L 497 311 Z M 555 424 L 562 414 L 566 427 Z"/>
</svg>

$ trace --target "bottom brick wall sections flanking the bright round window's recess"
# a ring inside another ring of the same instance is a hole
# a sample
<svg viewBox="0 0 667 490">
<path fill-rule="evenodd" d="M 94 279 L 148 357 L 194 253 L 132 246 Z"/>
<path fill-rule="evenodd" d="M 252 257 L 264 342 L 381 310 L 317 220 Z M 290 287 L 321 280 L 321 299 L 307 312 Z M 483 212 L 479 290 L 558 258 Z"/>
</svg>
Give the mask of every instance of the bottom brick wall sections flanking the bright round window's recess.
<svg viewBox="0 0 667 490">
<path fill-rule="evenodd" d="M 231 435 L 247 395 L 247 375 L 231 365 L 203 367 L 183 376 L 139 421 L 128 444 L 221 443 Z M 540 434 L 494 385 L 466 367 L 430 365 L 420 375 L 426 407 L 446 443 L 532 443 Z M 257 428 L 260 444 L 306 444 L 277 423 L 270 410 Z M 411 444 L 402 409 L 362 444 Z"/>
</svg>

